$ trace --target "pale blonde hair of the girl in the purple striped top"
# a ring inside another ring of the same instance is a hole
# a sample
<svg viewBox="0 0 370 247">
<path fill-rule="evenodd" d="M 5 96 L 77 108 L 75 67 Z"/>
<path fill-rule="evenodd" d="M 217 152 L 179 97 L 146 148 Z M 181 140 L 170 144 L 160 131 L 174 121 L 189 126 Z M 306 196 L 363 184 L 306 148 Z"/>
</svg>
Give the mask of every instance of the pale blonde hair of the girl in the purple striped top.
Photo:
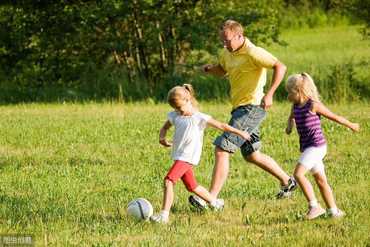
<svg viewBox="0 0 370 247">
<path fill-rule="evenodd" d="M 317 89 L 313 79 L 307 73 L 292 74 L 285 80 L 286 87 L 292 89 L 294 93 L 298 93 L 297 88 L 313 101 L 321 102 L 321 95 Z"/>
</svg>

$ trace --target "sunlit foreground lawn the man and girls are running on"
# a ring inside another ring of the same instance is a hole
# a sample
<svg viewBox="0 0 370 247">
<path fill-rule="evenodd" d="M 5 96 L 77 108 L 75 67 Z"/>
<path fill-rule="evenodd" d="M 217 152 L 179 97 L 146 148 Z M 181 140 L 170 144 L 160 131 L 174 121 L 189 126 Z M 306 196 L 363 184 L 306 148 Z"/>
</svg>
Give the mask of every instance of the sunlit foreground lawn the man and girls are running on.
<svg viewBox="0 0 370 247">
<path fill-rule="evenodd" d="M 202 111 L 227 122 L 230 104 L 202 103 Z M 34 233 L 36 246 L 369 246 L 369 111 L 367 104 L 329 105 L 360 123 L 360 132 L 323 119 L 329 185 L 342 220 L 302 222 L 300 190 L 275 199 L 278 181 L 243 161 L 230 159 L 219 197 L 222 213 L 199 214 L 189 206 L 181 181 L 168 226 L 129 220 L 125 209 L 137 197 L 159 213 L 162 179 L 172 166 L 170 148 L 158 143 L 167 104 L 19 104 L 0 107 L 0 232 Z M 288 174 L 299 158 L 298 136 L 284 133 L 289 103 L 276 103 L 260 126 L 262 152 Z M 172 138 L 173 128 L 168 137 Z M 194 168 L 208 187 L 212 142 L 206 128 L 203 153 Z M 313 177 L 307 174 L 314 184 Z M 324 204 L 317 186 L 319 203 Z"/>
</svg>

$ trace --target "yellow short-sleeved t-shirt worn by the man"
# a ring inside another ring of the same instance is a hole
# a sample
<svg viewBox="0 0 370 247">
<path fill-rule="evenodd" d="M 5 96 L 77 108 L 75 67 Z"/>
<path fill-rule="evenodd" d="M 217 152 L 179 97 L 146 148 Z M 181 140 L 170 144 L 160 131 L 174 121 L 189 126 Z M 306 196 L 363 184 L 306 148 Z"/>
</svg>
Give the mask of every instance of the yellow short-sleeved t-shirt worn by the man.
<svg viewBox="0 0 370 247">
<path fill-rule="evenodd" d="M 229 73 L 232 109 L 246 104 L 261 103 L 266 69 L 272 69 L 277 58 L 265 49 L 255 46 L 244 37 L 243 47 L 238 51 L 225 51 L 218 64 Z"/>
</svg>

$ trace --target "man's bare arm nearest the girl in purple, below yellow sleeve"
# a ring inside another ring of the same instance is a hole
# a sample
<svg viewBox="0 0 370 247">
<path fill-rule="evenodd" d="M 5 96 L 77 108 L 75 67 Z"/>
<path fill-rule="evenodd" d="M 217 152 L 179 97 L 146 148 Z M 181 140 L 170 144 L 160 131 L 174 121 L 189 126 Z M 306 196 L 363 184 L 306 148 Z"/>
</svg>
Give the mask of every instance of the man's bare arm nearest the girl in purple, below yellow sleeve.
<svg viewBox="0 0 370 247">
<path fill-rule="evenodd" d="M 274 66 L 272 66 L 272 69 L 274 70 L 274 72 L 272 73 L 269 90 L 266 92 L 265 96 L 263 96 L 261 99 L 260 107 L 262 107 L 263 110 L 266 110 L 270 106 L 272 106 L 272 94 L 275 92 L 277 86 L 279 86 L 279 84 L 283 80 L 286 71 L 286 66 L 279 60 L 276 60 Z"/>
</svg>

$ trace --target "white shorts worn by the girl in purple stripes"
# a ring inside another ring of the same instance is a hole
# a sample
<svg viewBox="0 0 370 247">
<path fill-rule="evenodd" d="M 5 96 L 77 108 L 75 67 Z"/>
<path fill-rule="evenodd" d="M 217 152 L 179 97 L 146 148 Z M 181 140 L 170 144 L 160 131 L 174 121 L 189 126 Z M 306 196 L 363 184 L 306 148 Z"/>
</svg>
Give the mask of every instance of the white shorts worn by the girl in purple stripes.
<svg viewBox="0 0 370 247">
<path fill-rule="evenodd" d="M 313 175 L 324 170 L 323 158 L 326 155 L 326 145 L 323 147 L 308 147 L 303 151 L 298 162 L 310 170 Z"/>
</svg>

